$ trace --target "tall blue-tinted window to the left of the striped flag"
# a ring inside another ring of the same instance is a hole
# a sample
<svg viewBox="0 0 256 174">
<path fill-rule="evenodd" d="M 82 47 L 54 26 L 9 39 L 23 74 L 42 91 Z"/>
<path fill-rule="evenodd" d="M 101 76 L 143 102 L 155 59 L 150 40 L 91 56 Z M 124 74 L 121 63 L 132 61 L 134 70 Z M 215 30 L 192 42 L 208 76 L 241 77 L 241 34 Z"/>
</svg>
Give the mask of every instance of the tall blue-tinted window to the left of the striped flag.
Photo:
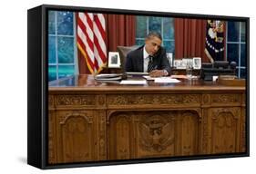
<svg viewBox="0 0 256 174">
<path fill-rule="evenodd" d="M 76 25 L 73 12 L 49 12 L 48 79 L 54 81 L 77 72 Z"/>
</svg>

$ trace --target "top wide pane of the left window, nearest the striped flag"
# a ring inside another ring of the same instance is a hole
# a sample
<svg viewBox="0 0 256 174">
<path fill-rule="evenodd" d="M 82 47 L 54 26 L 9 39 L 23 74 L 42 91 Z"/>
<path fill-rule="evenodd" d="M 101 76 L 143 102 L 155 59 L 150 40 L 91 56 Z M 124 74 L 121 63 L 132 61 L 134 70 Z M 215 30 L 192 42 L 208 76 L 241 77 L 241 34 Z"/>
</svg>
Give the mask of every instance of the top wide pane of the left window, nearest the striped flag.
<svg viewBox="0 0 256 174">
<path fill-rule="evenodd" d="M 73 35 L 72 12 L 57 12 L 57 34 Z"/>
</svg>

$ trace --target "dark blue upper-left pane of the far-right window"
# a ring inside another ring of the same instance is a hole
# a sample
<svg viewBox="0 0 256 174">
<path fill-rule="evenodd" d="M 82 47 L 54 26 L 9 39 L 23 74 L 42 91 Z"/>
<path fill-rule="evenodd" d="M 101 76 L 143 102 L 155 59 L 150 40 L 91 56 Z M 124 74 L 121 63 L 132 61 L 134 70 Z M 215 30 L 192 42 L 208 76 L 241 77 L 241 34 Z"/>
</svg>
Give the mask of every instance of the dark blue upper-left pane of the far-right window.
<svg viewBox="0 0 256 174">
<path fill-rule="evenodd" d="M 228 42 L 239 42 L 240 22 L 228 22 Z"/>
</svg>

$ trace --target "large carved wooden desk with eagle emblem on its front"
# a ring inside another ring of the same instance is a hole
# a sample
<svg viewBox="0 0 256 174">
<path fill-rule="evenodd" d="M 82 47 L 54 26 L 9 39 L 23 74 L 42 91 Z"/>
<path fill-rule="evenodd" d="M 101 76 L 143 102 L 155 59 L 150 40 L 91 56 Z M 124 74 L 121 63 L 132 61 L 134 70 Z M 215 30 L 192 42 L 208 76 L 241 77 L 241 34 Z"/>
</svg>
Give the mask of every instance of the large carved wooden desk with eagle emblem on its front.
<svg viewBox="0 0 256 174">
<path fill-rule="evenodd" d="M 120 85 L 79 75 L 49 83 L 48 162 L 245 151 L 245 87 L 184 80 Z"/>
</svg>

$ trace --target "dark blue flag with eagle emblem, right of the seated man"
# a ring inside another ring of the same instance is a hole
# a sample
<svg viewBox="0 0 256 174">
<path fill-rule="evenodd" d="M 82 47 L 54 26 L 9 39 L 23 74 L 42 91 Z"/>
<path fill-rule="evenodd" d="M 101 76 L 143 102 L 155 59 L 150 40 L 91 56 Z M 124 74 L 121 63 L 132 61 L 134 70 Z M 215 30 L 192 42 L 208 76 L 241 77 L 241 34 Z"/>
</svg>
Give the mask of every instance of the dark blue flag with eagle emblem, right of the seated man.
<svg viewBox="0 0 256 174">
<path fill-rule="evenodd" d="M 224 60 L 224 21 L 208 20 L 205 53 L 211 63 Z"/>
</svg>

